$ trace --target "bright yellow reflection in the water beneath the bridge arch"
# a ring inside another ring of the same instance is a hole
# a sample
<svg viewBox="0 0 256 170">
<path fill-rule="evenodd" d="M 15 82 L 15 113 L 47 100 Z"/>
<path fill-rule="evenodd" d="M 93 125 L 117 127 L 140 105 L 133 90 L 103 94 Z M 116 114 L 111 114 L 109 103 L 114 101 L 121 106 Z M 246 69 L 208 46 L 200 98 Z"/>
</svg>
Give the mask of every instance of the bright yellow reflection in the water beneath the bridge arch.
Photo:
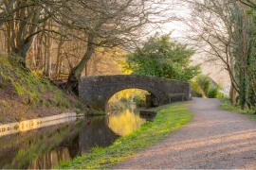
<svg viewBox="0 0 256 170">
<path fill-rule="evenodd" d="M 145 119 L 139 116 L 139 110 L 136 110 L 136 105 L 128 105 L 122 111 L 111 110 L 108 114 L 108 127 L 120 136 L 130 134 L 146 122 Z"/>
</svg>

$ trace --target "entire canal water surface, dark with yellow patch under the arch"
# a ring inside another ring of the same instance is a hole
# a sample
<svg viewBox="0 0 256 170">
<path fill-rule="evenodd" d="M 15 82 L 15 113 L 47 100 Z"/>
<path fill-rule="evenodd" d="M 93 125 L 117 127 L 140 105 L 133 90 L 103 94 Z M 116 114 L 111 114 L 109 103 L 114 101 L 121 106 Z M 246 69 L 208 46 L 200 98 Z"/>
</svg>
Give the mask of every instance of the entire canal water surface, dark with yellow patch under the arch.
<svg viewBox="0 0 256 170">
<path fill-rule="evenodd" d="M 105 147 L 140 127 L 146 120 L 135 105 L 106 116 L 78 118 L 60 125 L 0 136 L 1 170 L 48 170 Z"/>
</svg>

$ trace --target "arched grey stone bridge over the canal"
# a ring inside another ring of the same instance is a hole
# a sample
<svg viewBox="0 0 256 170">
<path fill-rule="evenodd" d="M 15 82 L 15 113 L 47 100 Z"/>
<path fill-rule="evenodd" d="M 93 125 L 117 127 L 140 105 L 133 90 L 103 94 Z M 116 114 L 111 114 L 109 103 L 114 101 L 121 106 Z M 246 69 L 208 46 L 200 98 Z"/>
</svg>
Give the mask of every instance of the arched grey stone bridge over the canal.
<svg viewBox="0 0 256 170">
<path fill-rule="evenodd" d="M 155 95 L 159 105 L 191 100 L 191 85 L 156 76 L 83 76 L 79 81 L 79 97 L 94 110 L 106 110 L 112 95 L 124 89 L 141 89 Z"/>
</svg>

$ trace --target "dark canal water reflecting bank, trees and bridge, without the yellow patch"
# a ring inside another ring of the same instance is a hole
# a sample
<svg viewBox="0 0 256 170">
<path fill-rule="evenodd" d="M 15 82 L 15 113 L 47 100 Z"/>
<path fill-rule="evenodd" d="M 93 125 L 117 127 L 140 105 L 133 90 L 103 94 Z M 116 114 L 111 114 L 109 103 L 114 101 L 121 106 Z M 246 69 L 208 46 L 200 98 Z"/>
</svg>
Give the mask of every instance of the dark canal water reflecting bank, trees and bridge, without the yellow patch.
<svg viewBox="0 0 256 170">
<path fill-rule="evenodd" d="M 105 125 L 104 117 L 21 132 L 0 139 L 0 167 L 50 169 L 60 161 L 88 152 L 92 146 L 105 146 L 117 138 Z"/>
</svg>

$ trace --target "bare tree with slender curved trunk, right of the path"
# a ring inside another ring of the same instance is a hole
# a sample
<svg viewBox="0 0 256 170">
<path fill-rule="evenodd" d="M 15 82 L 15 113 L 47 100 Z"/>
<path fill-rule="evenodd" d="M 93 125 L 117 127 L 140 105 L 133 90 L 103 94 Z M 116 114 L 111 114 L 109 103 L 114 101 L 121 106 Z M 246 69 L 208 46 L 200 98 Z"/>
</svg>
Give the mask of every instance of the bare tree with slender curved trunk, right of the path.
<svg viewBox="0 0 256 170">
<path fill-rule="evenodd" d="M 231 9 L 235 4 L 217 1 L 189 1 L 192 8 L 190 21 L 185 23 L 192 34 L 189 38 L 196 42 L 197 49 L 206 54 L 206 60 L 221 60 L 229 72 L 231 81 L 230 97 L 235 100 L 239 85 L 235 78 L 235 59 L 232 55 L 233 24 L 230 23 Z"/>
</svg>

